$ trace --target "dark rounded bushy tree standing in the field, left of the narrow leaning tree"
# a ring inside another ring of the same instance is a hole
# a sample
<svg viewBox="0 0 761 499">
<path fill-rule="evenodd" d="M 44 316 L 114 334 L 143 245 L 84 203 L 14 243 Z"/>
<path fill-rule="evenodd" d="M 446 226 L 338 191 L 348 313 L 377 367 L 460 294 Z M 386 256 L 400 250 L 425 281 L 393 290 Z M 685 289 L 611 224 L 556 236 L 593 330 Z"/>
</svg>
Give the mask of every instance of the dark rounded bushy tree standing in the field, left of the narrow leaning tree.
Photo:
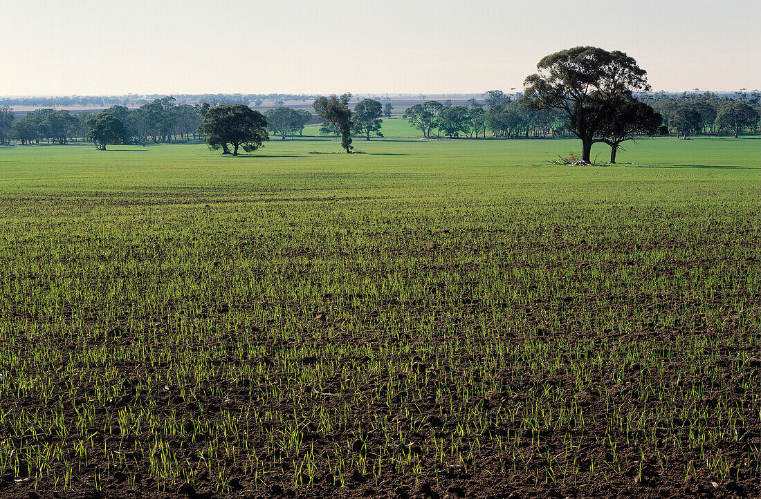
<svg viewBox="0 0 761 499">
<path fill-rule="evenodd" d="M 232 155 L 237 156 L 238 148 L 256 151 L 269 140 L 266 126 L 267 119 L 259 111 L 244 104 L 222 104 L 208 110 L 198 128 L 206 134 L 209 148 L 216 151 L 221 147 L 222 154 L 231 154 L 229 145 L 232 145 Z"/>
</svg>

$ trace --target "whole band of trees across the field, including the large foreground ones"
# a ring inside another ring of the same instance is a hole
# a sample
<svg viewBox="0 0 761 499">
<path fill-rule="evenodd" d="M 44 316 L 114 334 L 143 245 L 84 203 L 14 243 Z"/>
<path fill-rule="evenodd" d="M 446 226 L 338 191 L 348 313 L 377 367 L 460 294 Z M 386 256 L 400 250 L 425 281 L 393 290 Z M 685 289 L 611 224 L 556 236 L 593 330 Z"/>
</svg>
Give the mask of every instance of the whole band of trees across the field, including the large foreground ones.
<svg viewBox="0 0 761 499">
<path fill-rule="evenodd" d="M 467 106 L 427 100 L 403 114 L 425 137 L 486 138 L 575 135 L 581 139 L 582 162 L 590 163 L 591 146 L 610 145 L 610 163 L 616 151 L 635 135 L 667 134 L 673 130 L 687 138 L 693 132 L 734 132 L 759 129 L 759 100 L 752 94 L 742 99 L 715 94 L 645 94 L 651 91 L 647 73 L 624 52 L 581 46 L 545 56 L 537 73 L 524 81 L 524 94 L 512 99 L 502 91 L 486 92 L 480 103 Z M 317 97 L 313 108 L 323 121 L 320 132 L 341 137 L 341 146 L 352 152 L 352 136 L 383 137 L 382 117 L 393 106 L 365 98 L 349 108 L 352 94 Z M 161 97 L 135 110 L 111 106 L 97 115 L 41 109 L 14 122 L 10 107 L 0 108 L 0 144 L 15 138 L 22 145 L 40 140 L 66 144 L 80 136 L 97 148 L 129 142 L 169 142 L 177 136 L 189 140 L 202 135 L 212 149 L 237 156 L 239 148 L 254 151 L 269 140 L 269 132 L 286 136 L 301 134 L 311 118 L 305 110 L 285 106 L 266 113 L 242 103 L 203 103 L 177 106 L 174 97 Z"/>
</svg>

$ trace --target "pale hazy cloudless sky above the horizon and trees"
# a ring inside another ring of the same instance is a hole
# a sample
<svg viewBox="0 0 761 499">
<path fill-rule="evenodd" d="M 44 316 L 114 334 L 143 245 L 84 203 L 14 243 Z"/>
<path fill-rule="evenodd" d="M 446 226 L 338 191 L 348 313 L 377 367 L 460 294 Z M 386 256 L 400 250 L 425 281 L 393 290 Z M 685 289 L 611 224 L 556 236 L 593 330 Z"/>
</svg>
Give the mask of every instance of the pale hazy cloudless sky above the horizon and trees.
<svg viewBox="0 0 761 499">
<path fill-rule="evenodd" d="M 0 95 L 482 92 L 622 50 L 655 90 L 761 87 L 761 0 L 13 0 Z"/>
</svg>

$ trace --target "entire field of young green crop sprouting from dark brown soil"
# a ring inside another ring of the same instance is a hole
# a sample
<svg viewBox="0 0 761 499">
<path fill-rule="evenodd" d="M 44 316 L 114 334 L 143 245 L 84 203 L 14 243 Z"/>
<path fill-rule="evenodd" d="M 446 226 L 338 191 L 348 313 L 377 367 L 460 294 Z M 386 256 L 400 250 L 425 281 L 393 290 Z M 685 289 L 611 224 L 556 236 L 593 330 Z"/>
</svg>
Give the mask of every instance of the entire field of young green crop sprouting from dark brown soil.
<svg viewBox="0 0 761 499">
<path fill-rule="evenodd" d="M 0 148 L 0 496 L 757 497 L 761 139 L 391 122 Z"/>
</svg>

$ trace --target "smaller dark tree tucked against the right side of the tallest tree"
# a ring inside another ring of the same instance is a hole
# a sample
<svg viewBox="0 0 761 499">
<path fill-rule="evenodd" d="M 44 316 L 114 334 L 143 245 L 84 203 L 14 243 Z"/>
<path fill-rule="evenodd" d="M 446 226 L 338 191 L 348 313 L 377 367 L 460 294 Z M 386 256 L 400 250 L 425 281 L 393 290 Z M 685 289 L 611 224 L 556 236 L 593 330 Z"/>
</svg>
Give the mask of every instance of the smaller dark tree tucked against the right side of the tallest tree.
<svg viewBox="0 0 761 499">
<path fill-rule="evenodd" d="M 635 133 L 654 135 L 658 133 L 663 117 L 651 106 L 625 94 L 613 100 L 613 112 L 600 125 L 602 141 L 610 145 L 610 163 L 616 163 L 616 151 L 621 142 L 632 140 Z"/>
</svg>

